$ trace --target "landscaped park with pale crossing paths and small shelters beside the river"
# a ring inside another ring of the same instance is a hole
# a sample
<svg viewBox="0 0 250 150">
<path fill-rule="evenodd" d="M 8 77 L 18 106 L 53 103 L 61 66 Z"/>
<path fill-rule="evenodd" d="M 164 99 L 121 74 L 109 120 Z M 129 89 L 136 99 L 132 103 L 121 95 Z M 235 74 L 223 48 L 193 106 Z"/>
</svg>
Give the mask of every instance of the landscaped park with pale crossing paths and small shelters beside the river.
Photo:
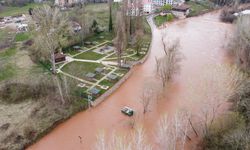
<svg viewBox="0 0 250 150">
<path fill-rule="evenodd" d="M 76 80 L 76 91 L 84 101 L 94 101 L 112 88 L 150 46 L 145 41 L 139 50 L 128 48 L 121 56 L 123 65 L 118 67 L 117 52 L 109 39 L 108 33 L 90 37 L 83 44 L 67 48 L 66 61 L 57 63 L 58 74 Z"/>
</svg>

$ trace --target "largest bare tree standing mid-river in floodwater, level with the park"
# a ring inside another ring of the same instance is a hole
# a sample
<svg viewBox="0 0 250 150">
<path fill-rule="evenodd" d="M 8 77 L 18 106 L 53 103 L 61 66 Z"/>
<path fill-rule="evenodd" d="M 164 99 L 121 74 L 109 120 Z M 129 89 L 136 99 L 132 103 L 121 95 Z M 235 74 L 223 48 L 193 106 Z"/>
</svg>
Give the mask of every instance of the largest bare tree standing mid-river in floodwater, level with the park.
<svg viewBox="0 0 250 150">
<path fill-rule="evenodd" d="M 179 52 L 178 40 L 176 40 L 170 47 L 167 47 L 164 38 L 162 37 L 162 44 L 165 55 L 162 58 L 156 58 L 156 68 L 162 86 L 166 87 L 167 83 L 172 79 L 172 76 L 179 71 L 179 63 L 182 57 Z"/>
</svg>

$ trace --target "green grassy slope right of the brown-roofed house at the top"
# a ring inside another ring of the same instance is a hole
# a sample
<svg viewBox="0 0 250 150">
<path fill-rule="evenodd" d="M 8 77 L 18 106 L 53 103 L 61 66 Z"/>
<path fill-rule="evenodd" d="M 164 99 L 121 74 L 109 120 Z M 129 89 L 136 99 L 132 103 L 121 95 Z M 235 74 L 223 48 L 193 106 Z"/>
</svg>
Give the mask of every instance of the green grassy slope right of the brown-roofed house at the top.
<svg viewBox="0 0 250 150">
<path fill-rule="evenodd" d="M 187 4 L 190 6 L 191 11 L 188 17 L 197 16 L 213 9 L 213 5 L 211 2 L 204 1 L 204 2 L 194 2 L 189 1 Z"/>
</svg>

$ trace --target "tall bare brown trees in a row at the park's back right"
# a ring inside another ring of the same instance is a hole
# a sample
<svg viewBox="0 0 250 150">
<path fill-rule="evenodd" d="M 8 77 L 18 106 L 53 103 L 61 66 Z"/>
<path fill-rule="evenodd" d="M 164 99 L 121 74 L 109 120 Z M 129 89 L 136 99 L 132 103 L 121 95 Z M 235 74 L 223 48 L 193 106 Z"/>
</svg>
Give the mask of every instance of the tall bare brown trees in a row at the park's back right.
<svg viewBox="0 0 250 150">
<path fill-rule="evenodd" d="M 142 1 L 133 1 L 135 9 L 130 8 L 131 2 L 124 0 L 122 6 L 116 14 L 116 38 L 115 47 L 118 56 L 118 65 L 121 66 L 121 58 L 123 52 L 127 49 L 128 43 L 133 43 L 139 54 L 139 49 L 142 44 L 143 30 L 143 16 L 140 12 Z M 112 21 L 110 20 L 109 28 L 112 29 Z"/>
</svg>

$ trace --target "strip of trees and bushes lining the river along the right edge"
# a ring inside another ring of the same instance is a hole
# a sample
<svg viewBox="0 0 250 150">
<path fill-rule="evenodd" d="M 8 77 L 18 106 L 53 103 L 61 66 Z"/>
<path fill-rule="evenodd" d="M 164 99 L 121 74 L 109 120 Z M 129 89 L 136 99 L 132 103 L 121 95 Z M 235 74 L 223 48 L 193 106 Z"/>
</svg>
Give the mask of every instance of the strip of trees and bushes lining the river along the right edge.
<svg viewBox="0 0 250 150">
<path fill-rule="evenodd" d="M 230 54 L 241 68 L 242 83 L 230 96 L 233 103 L 229 114 L 216 119 L 204 137 L 205 149 L 249 149 L 250 148 L 250 80 L 249 80 L 249 16 L 237 20 L 236 32 L 229 44 Z"/>
</svg>

